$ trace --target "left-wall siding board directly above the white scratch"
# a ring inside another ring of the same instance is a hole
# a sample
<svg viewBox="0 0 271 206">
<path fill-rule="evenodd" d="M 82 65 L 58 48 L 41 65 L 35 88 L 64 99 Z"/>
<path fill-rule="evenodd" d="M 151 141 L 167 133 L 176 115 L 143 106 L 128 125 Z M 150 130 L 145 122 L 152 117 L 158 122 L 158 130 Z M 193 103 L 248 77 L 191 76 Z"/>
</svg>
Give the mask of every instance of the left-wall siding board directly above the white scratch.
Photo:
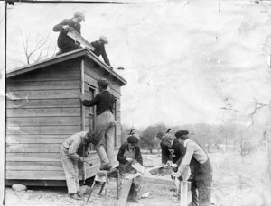
<svg viewBox="0 0 271 206">
<path fill-rule="evenodd" d="M 55 80 L 55 81 L 14 81 L 6 85 L 7 92 L 21 90 L 48 90 L 48 89 L 79 89 L 79 80 Z"/>
</svg>

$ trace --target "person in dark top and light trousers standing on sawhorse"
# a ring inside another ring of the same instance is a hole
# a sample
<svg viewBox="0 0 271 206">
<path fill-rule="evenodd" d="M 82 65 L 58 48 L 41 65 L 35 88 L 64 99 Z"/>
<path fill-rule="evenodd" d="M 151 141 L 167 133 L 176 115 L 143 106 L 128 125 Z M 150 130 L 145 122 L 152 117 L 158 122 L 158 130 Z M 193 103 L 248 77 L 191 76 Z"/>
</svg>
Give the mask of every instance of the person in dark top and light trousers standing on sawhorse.
<svg viewBox="0 0 271 206">
<path fill-rule="evenodd" d="M 113 105 L 116 97 L 108 91 L 109 82 L 106 78 L 101 78 L 97 82 L 99 94 L 93 100 L 85 100 L 80 95 L 80 99 L 84 106 L 96 106 L 96 133 L 98 141 L 94 143 L 98 156 L 101 159 L 101 170 L 110 170 L 114 162 L 114 134 L 116 121 L 113 115 Z M 105 146 L 105 147 L 104 147 Z"/>
</svg>

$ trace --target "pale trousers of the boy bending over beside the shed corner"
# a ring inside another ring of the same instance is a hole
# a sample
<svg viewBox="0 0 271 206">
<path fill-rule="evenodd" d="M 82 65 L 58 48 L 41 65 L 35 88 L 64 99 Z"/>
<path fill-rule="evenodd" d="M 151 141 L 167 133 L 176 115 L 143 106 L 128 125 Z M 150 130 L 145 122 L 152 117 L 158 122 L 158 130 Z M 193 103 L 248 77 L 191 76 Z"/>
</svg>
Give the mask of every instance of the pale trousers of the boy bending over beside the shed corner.
<svg viewBox="0 0 271 206">
<path fill-rule="evenodd" d="M 60 152 L 68 193 L 77 193 L 80 190 L 78 161 L 71 159 L 68 155 L 68 149 L 64 148 L 62 145 Z"/>
</svg>

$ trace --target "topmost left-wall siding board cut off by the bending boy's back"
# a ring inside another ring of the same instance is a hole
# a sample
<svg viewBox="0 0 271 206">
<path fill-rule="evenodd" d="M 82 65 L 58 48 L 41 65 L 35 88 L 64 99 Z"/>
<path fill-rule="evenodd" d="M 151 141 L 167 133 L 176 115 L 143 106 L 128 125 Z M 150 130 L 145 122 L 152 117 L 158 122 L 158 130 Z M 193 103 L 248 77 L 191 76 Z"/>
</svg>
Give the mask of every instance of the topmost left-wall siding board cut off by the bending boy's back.
<svg viewBox="0 0 271 206">
<path fill-rule="evenodd" d="M 65 139 L 69 138 L 70 135 L 58 134 L 58 135 L 6 135 L 5 143 L 30 143 L 30 144 L 43 144 L 43 143 L 63 143 Z"/>
</svg>

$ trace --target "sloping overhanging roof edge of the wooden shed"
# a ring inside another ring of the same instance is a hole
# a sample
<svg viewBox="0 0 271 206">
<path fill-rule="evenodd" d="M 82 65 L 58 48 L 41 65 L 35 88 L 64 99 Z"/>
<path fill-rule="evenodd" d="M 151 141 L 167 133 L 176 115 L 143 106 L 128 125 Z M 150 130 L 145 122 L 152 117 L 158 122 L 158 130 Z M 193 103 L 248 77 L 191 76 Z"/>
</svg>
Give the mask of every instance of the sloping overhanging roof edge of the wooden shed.
<svg viewBox="0 0 271 206">
<path fill-rule="evenodd" d="M 27 66 L 16 67 L 16 68 L 14 68 L 14 69 L 12 69 L 12 70 L 10 70 L 10 71 L 8 71 L 6 73 L 6 78 L 21 75 L 23 73 L 36 70 L 38 68 L 48 67 L 50 65 L 57 64 L 57 63 L 60 63 L 60 62 L 66 61 L 66 60 L 70 60 L 72 58 L 79 58 L 79 57 L 84 57 L 84 56 L 91 58 L 93 61 L 98 63 L 98 65 L 101 67 L 101 69 L 103 69 L 104 71 L 107 71 L 112 76 L 116 77 L 117 80 L 119 80 L 119 82 L 121 83 L 121 85 L 126 85 L 127 82 L 123 77 L 119 76 L 116 72 L 111 70 L 107 66 L 107 64 L 102 62 L 92 51 L 90 51 L 87 48 L 72 50 L 70 52 L 61 54 L 59 56 L 55 56 L 55 57 L 52 57 L 52 58 L 47 58 L 45 60 L 30 64 L 30 65 L 27 65 Z"/>
</svg>

